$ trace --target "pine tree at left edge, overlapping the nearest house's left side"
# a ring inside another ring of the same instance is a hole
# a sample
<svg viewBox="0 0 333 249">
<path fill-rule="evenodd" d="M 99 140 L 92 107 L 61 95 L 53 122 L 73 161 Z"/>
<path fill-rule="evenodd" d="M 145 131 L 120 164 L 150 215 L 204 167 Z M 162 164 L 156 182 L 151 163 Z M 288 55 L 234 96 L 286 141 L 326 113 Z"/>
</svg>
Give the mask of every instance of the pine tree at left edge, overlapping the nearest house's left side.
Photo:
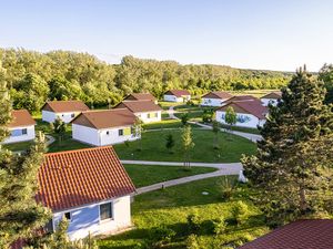
<svg viewBox="0 0 333 249">
<path fill-rule="evenodd" d="M 3 84 L 2 84 L 3 86 Z M 1 95 L 8 96 L 4 89 Z M 10 100 L 1 97 L 1 137 L 9 134 Z M 8 248 L 19 238 L 33 237 L 50 218 L 49 209 L 37 204 L 37 174 L 43 159 L 44 137 L 40 135 L 24 155 L 14 155 L 0 147 L 0 248 Z"/>
</svg>

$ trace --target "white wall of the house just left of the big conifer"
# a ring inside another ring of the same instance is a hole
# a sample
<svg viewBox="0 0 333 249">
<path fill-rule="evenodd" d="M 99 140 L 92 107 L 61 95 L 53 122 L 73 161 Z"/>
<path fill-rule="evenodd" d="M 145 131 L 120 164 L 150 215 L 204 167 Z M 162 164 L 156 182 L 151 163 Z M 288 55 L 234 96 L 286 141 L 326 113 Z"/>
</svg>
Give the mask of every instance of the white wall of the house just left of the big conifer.
<svg viewBox="0 0 333 249">
<path fill-rule="evenodd" d="M 225 120 L 225 112 L 216 111 L 216 121 L 221 124 L 226 124 Z M 243 114 L 243 113 L 236 113 L 238 122 L 235 123 L 235 126 L 240 127 L 250 127 L 250 128 L 256 128 L 256 126 L 262 126 L 265 121 L 259 120 L 256 116 L 252 114 Z"/>
</svg>

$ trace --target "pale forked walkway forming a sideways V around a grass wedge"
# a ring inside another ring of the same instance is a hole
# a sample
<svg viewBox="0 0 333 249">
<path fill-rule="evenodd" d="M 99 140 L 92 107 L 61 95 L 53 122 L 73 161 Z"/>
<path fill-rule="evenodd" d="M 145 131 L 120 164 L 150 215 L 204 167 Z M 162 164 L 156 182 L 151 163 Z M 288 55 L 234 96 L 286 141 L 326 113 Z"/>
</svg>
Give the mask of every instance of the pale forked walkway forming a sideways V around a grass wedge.
<svg viewBox="0 0 333 249">
<path fill-rule="evenodd" d="M 159 166 L 183 166 L 183 163 L 180 162 L 150 162 L 150 160 L 121 160 L 122 164 L 138 164 L 138 165 L 154 165 Z M 137 188 L 137 194 L 140 195 L 148 191 L 158 190 L 165 187 L 171 187 L 180 184 L 186 184 L 194 180 L 206 179 L 216 176 L 230 176 L 239 175 L 240 170 L 243 169 L 241 163 L 230 163 L 230 164 L 213 164 L 213 163 L 191 163 L 191 167 L 212 167 L 218 170 L 206 174 L 200 174 L 194 176 L 186 176 L 178 179 L 167 180 L 150 186 Z"/>
</svg>

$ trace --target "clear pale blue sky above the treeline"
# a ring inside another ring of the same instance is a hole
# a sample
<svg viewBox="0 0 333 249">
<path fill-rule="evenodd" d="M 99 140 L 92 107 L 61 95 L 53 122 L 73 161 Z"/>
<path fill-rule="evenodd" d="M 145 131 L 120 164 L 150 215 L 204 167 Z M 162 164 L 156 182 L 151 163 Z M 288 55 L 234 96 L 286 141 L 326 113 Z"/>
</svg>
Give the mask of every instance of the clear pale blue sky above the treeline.
<svg viewBox="0 0 333 249">
<path fill-rule="evenodd" d="M 0 0 L 0 48 L 319 71 L 333 63 L 333 1 Z"/>
</svg>

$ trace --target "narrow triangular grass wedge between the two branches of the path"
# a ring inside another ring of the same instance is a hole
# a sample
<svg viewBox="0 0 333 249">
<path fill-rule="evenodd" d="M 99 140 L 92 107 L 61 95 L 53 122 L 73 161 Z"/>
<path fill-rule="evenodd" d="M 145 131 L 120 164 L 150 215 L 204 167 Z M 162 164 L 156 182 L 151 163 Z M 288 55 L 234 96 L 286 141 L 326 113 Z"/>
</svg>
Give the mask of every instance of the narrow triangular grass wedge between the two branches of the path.
<svg viewBox="0 0 333 249">
<path fill-rule="evenodd" d="M 215 172 L 215 168 L 178 166 L 124 165 L 137 188 L 185 176 Z"/>
</svg>

